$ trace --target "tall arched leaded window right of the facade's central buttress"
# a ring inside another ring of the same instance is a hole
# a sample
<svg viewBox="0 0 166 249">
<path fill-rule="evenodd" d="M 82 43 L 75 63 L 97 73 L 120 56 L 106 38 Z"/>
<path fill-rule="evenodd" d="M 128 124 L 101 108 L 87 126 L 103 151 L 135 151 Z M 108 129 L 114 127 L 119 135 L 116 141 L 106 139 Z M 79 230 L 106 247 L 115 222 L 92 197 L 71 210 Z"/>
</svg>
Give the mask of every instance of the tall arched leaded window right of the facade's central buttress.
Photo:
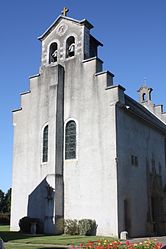
<svg viewBox="0 0 166 249">
<path fill-rule="evenodd" d="M 65 159 L 74 158 L 76 158 L 76 123 L 71 120 L 65 129 Z"/>
</svg>

